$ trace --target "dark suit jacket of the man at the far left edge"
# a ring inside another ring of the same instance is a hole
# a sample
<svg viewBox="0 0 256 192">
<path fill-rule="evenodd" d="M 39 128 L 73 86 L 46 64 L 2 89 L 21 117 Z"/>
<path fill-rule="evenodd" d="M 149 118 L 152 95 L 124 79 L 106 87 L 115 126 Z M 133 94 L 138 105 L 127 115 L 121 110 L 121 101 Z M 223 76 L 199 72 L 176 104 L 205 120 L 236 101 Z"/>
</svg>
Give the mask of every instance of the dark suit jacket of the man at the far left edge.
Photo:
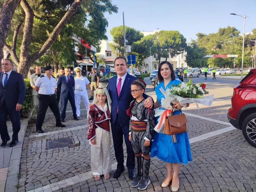
<svg viewBox="0 0 256 192">
<path fill-rule="evenodd" d="M 5 100 L 7 108 L 16 108 L 16 104 L 23 104 L 26 96 L 26 86 L 23 76 L 20 73 L 12 71 L 6 88 L 2 84 L 3 73 L 0 73 L 0 107 L 2 107 L 3 100 Z"/>
</svg>

